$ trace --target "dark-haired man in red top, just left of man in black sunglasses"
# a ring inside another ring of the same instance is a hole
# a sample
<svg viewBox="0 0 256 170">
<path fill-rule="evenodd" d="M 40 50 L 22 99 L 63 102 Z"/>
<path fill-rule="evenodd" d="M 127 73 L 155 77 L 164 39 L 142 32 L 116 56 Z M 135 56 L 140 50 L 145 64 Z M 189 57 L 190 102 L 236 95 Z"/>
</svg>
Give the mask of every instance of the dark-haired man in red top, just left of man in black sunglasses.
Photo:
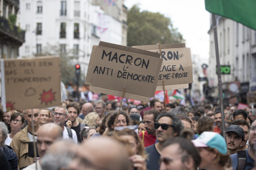
<svg viewBox="0 0 256 170">
<path fill-rule="evenodd" d="M 156 129 L 154 128 L 154 123 L 156 123 L 158 115 L 159 111 L 156 109 L 150 109 L 144 113 L 143 120 L 145 121 L 144 128 L 146 131 L 142 131 L 139 134 L 144 147 L 151 146 L 156 142 Z"/>
</svg>

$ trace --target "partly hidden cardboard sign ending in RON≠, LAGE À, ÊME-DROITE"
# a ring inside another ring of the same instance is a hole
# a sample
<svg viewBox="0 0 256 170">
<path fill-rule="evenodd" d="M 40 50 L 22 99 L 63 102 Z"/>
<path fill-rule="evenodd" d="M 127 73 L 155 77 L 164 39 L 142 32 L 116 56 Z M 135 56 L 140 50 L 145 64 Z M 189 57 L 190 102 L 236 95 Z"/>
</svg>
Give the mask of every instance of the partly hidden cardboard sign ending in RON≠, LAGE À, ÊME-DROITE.
<svg viewBox="0 0 256 170">
<path fill-rule="evenodd" d="M 142 45 L 134 48 L 160 53 L 159 45 Z M 161 58 L 163 64 L 160 69 L 156 90 L 188 88 L 188 83 L 193 82 L 193 70 L 190 48 L 181 44 L 161 45 Z"/>
</svg>

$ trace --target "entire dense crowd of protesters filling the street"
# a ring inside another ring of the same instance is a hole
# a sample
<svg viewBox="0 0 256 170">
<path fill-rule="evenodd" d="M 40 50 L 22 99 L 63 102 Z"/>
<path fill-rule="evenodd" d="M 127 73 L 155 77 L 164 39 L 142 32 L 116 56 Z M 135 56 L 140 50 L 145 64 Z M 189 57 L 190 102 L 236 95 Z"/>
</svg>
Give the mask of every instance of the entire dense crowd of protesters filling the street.
<svg viewBox="0 0 256 170">
<path fill-rule="evenodd" d="M 224 116 L 158 99 L 0 111 L 0 170 L 254 169 L 256 108 L 228 105 Z"/>
</svg>

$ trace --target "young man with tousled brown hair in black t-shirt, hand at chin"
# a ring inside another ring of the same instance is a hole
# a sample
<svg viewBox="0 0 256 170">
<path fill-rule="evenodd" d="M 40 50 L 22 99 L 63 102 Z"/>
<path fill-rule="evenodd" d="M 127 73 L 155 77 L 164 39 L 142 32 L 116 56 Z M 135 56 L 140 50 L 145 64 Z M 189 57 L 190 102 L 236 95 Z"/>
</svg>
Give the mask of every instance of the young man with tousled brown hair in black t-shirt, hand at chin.
<svg viewBox="0 0 256 170">
<path fill-rule="evenodd" d="M 84 123 L 79 123 L 76 118 L 78 117 L 78 114 L 80 113 L 80 105 L 79 102 L 70 102 L 67 105 L 68 109 L 68 121 L 66 123 L 67 127 L 70 127 L 71 129 L 75 130 L 75 133 L 77 135 L 77 141 L 81 142 L 80 134 L 79 132 L 81 131 L 82 128 L 86 124 Z"/>
</svg>

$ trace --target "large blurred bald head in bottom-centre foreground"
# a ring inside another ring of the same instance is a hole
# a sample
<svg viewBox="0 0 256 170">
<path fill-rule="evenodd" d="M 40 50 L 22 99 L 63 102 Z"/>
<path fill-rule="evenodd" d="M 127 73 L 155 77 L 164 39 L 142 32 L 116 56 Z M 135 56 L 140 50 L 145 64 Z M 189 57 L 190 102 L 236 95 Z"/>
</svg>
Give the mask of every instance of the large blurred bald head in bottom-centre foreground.
<svg viewBox="0 0 256 170">
<path fill-rule="evenodd" d="M 101 137 L 82 143 L 77 150 L 77 157 L 70 162 L 69 169 L 128 170 L 129 163 L 127 150 L 121 143 L 109 137 Z"/>
</svg>

